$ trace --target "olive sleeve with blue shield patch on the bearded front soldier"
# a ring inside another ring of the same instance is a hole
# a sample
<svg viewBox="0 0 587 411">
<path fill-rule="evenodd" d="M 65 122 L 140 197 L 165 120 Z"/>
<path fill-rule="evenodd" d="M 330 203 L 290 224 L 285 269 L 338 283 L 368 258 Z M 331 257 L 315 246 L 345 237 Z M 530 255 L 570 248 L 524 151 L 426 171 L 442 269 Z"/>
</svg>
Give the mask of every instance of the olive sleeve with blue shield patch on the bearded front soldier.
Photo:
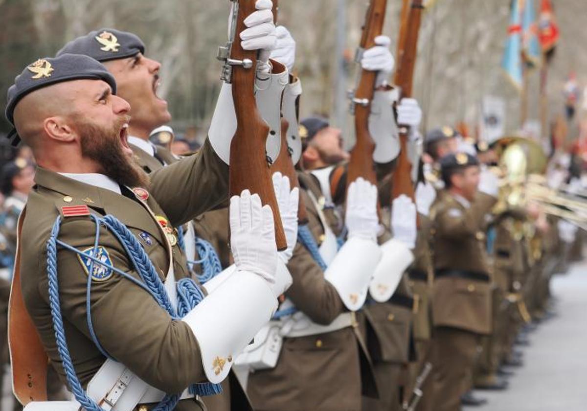
<svg viewBox="0 0 587 411">
<path fill-rule="evenodd" d="M 59 239 L 78 248 L 93 247 L 90 220 L 66 221 Z M 109 259 L 134 278 L 126 253 L 112 234 L 100 230 L 100 258 Z M 107 252 L 107 254 L 106 254 Z M 59 294 L 62 314 L 77 329 L 90 336 L 86 321 L 87 272 L 78 255 L 60 248 L 58 251 Z M 102 272 L 102 280 L 92 280 L 90 306 L 97 339 L 114 359 L 149 385 L 167 393 L 178 393 L 188 385 L 205 381 L 200 349 L 191 329 L 173 321 L 151 295 L 122 275 Z"/>
</svg>

